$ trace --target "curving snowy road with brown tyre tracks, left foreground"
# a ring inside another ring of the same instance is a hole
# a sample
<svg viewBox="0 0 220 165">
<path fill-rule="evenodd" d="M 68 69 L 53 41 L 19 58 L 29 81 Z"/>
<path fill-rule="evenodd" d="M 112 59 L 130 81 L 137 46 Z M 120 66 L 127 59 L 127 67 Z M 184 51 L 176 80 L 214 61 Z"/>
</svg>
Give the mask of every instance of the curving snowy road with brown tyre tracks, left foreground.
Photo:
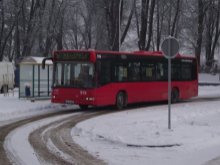
<svg viewBox="0 0 220 165">
<path fill-rule="evenodd" d="M 0 127 L 0 164 L 105 164 L 71 137 L 71 129 L 80 121 L 109 111 L 63 111 L 35 116 Z"/>
</svg>

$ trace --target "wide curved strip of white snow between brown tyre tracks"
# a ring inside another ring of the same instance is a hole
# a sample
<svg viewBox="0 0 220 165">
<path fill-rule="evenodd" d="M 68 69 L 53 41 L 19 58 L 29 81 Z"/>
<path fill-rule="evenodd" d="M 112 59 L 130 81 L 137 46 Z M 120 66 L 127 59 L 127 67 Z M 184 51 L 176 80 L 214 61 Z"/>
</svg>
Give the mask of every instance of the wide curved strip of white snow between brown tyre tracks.
<svg viewBox="0 0 220 165">
<path fill-rule="evenodd" d="M 43 127 L 51 122 L 62 120 L 68 115 L 56 116 L 50 119 L 39 120 L 30 124 L 26 124 L 20 128 L 12 131 L 5 139 L 4 148 L 8 153 L 8 157 L 12 162 L 17 164 L 28 165 L 32 162 L 32 165 L 40 165 L 41 162 L 37 158 L 32 146 L 30 145 L 28 138 L 33 130 Z M 41 139 L 43 141 L 43 139 Z M 25 147 L 24 147 L 25 146 Z"/>
</svg>

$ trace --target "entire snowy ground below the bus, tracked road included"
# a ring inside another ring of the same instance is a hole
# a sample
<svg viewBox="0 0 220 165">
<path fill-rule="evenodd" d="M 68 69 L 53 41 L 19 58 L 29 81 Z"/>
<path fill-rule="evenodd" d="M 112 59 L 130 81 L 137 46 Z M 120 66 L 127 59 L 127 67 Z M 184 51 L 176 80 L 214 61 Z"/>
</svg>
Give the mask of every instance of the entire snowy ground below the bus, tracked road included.
<svg viewBox="0 0 220 165">
<path fill-rule="evenodd" d="M 0 95 L 4 107 L 0 110 L 0 164 L 74 164 L 79 160 L 83 162 L 78 164 L 88 164 L 94 160 L 94 164 L 110 165 L 218 165 L 219 160 L 212 160 L 220 155 L 220 87 L 199 91 L 199 98 L 172 105 L 171 131 L 167 130 L 166 104 L 130 106 L 97 117 L 94 113 L 102 113 L 101 109 L 81 112 L 76 106 L 74 111 L 61 106 L 59 110 L 60 105 L 49 101 L 31 103 Z M 78 123 L 90 114 L 96 117 Z M 147 147 L 158 144 L 178 145 Z"/>
</svg>

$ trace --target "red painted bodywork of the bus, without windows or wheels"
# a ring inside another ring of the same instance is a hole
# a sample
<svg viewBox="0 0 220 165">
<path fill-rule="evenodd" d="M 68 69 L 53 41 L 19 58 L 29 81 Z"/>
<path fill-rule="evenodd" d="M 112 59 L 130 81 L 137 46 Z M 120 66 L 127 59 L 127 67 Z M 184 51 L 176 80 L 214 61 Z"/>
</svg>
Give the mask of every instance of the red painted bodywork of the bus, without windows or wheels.
<svg viewBox="0 0 220 165">
<path fill-rule="evenodd" d="M 147 56 L 161 57 L 161 52 L 112 52 L 112 51 L 84 51 L 84 50 L 66 50 L 56 52 L 89 52 L 90 62 L 96 63 L 97 54 L 112 54 L 117 56 L 126 54 L 127 56 Z M 54 53 L 53 62 L 56 62 L 56 52 Z M 193 57 L 183 57 L 179 54 L 177 59 L 195 59 Z M 65 60 L 64 60 L 65 61 Z M 68 61 L 68 59 L 66 59 Z M 198 74 L 193 81 L 172 81 L 172 88 L 179 90 L 180 99 L 189 99 L 198 95 Z M 162 101 L 168 98 L 168 82 L 152 81 L 152 82 L 111 82 L 103 86 L 95 88 L 65 88 L 57 87 L 52 90 L 53 103 L 72 103 L 77 105 L 106 106 L 116 103 L 116 96 L 119 91 L 124 91 L 127 95 L 128 103 Z"/>
</svg>

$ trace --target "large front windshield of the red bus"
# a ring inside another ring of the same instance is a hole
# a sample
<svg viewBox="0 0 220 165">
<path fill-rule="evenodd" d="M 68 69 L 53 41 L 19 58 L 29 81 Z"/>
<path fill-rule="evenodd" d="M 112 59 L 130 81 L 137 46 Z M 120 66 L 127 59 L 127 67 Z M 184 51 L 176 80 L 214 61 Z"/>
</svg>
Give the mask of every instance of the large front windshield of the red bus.
<svg viewBox="0 0 220 165">
<path fill-rule="evenodd" d="M 53 87 L 93 88 L 94 64 L 88 62 L 57 62 L 54 65 Z"/>
</svg>

